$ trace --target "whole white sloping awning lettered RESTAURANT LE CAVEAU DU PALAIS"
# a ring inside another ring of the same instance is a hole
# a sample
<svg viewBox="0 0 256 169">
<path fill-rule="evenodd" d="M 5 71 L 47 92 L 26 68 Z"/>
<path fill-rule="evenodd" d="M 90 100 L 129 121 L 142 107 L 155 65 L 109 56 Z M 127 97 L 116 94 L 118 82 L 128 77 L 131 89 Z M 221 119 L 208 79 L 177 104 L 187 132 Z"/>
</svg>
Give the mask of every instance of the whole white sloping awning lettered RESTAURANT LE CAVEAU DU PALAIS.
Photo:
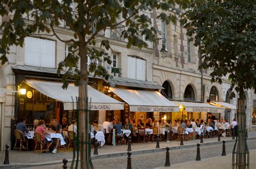
<svg viewBox="0 0 256 169">
<path fill-rule="evenodd" d="M 123 101 L 129 104 L 130 111 L 137 112 L 177 112 L 179 106 L 169 101 L 158 91 L 110 88 Z"/>
</svg>

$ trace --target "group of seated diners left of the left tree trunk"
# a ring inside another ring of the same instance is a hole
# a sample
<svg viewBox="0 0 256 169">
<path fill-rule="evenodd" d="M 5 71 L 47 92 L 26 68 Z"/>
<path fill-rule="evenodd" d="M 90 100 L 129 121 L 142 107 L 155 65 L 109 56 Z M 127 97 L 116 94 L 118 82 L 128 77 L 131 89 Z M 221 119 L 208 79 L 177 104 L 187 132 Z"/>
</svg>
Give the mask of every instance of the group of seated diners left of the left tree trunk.
<svg viewBox="0 0 256 169">
<path fill-rule="evenodd" d="M 76 134 L 77 122 L 73 120 L 71 124 L 69 124 L 67 119 L 63 117 L 61 124 L 59 124 L 56 119 L 52 119 L 51 123 L 49 124 L 49 127 L 46 127 L 45 121 L 43 119 L 40 119 L 40 120 L 35 119 L 33 121 L 33 126 L 29 126 L 29 129 L 28 129 L 28 127 L 26 126 L 26 118 L 22 117 L 21 121 L 16 124 L 16 130 L 21 131 L 23 135 L 24 133 L 27 133 L 30 130 L 40 133 L 42 142 L 49 143 L 50 150 L 52 150 L 51 152 L 56 153 L 57 148 L 60 144 L 60 138 L 53 138 L 52 140 L 48 140 L 45 138 L 44 134 L 48 132 L 60 133 L 63 136 L 65 142 L 68 143 L 69 142 L 68 131 L 75 132 Z M 54 143 L 53 147 L 51 147 L 52 143 Z"/>
</svg>

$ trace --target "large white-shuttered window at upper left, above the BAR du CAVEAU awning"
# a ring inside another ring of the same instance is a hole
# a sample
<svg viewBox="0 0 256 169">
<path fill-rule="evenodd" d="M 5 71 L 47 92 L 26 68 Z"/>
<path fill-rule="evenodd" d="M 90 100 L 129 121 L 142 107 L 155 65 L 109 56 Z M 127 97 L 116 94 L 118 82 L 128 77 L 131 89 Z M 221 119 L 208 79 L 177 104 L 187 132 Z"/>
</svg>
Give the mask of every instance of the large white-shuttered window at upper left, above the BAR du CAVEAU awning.
<svg viewBox="0 0 256 169">
<path fill-rule="evenodd" d="M 55 41 L 26 37 L 25 65 L 55 68 Z"/>
</svg>

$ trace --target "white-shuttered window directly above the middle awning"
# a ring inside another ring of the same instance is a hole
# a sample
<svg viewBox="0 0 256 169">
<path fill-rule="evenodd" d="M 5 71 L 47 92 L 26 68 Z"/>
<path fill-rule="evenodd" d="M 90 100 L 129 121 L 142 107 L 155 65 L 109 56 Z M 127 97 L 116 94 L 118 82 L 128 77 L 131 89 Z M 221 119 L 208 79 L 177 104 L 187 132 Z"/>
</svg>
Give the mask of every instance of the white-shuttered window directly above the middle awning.
<svg viewBox="0 0 256 169">
<path fill-rule="evenodd" d="M 146 60 L 134 56 L 128 56 L 127 64 L 127 78 L 146 80 Z"/>
</svg>

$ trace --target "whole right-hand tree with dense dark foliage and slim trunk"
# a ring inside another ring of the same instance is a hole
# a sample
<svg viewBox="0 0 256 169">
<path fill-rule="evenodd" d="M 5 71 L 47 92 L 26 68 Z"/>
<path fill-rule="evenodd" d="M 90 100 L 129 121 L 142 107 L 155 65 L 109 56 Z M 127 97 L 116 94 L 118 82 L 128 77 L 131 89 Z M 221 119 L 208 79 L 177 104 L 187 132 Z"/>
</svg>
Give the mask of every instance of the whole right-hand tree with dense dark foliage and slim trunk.
<svg viewBox="0 0 256 169">
<path fill-rule="evenodd" d="M 228 76 L 231 88 L 239 93 L 239 168 L 246 163 L 244 90 L 256 88 L 255 13 L 255 2 L 250 0 L 195 0 L 181 20 L 199 47 L 203 59 L 199 68 L 213 69 L 212 82 L 221 83 Z"/>
</svg>

